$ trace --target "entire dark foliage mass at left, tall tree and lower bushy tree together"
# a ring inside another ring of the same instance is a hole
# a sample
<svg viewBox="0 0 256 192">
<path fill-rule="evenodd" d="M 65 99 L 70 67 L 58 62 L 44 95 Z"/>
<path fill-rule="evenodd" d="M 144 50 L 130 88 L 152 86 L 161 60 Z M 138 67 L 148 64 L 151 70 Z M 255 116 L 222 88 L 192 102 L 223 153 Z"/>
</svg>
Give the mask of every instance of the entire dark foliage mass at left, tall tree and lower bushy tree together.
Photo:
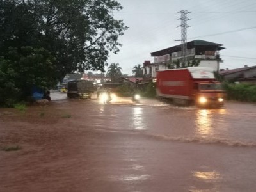
<svg viewBox="0 0 256 192">
<path fill-rule="evenodd" d="M 127 29 L 115 0 L 1 0 L 0 105 L 65 74 L 101 70 Z M 18 93 L 18 94 L 14 94 Z M 14 95 L 13 95 L 14 94 Z"/>
</svg>

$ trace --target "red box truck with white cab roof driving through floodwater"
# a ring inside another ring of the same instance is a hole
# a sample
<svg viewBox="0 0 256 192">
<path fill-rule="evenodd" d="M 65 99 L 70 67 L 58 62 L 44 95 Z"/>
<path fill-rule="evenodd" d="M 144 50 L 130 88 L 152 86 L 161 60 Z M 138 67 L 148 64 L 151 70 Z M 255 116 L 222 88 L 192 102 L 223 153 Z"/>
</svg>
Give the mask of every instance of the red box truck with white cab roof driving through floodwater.
<svg viewBox="0 0 256 192">
<path fill-rule="evenodd" d="M 214 78 L 211 68 L 188 67 L 159 70 L 156 95 L 172 99 L 175 104 L 220 107 L 224 105 L 225 91 Z"/>
</svg>

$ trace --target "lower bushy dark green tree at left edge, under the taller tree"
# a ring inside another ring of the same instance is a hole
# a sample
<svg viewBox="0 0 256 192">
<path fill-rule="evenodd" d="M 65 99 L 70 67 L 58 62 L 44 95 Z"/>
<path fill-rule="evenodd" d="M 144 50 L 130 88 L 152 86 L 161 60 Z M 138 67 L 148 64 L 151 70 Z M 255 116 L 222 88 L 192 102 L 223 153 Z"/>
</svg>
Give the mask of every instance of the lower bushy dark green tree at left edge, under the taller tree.
<svg viewBox="0 0 256 192">
<path fill-rule="evenodd" d="M 10 47 L 8 55 L 0 58 L 0 105 L 26 99 L 33 86 L 49 88 L 56 84 L 54 61 L 44 48 Z"/>
</svg>

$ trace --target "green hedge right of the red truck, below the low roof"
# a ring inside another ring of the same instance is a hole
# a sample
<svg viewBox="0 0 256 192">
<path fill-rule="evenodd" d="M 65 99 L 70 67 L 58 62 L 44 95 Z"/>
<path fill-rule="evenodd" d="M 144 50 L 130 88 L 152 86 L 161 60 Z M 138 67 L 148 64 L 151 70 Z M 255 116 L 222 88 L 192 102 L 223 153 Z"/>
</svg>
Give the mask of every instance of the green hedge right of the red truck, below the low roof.
<svg viewBox="0 0 256 192">
<path fill-rule="evenodd" d="M 256 84 L 224 83 L 228 100 L 239 100 L 245 102 L 256 102 Z"/>
</svg>

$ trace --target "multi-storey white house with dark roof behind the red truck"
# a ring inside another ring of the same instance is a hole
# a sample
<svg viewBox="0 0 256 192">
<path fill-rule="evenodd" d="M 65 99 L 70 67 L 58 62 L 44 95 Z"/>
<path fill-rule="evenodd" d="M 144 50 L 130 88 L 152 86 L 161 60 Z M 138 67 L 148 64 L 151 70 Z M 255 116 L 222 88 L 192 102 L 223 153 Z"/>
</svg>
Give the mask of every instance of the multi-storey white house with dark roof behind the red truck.
<svg viewBox="0 0 256 192">
<path fill-rule="evenodd" d="M 188 62 L 198 60 L 198 66 L 210 67 L 214 71 L 219 70 L 220 59 L 219 51 L 225 49 L 222 44 L 207 42 L 204 40 L 193 40 L 186 43 L 186 65 Z M 177 68 L 177 61 L 182 61 L 182 45 L 176 45 L 156 52 L 152 52 L 154 63 L 145 61 L 143 63 L 143 74 L 147 77 L 156 77 L 157 70 L 163 70 L 168 67 Z M 185 66 L 186 66 L 185 65 Z"/>
</svg>

